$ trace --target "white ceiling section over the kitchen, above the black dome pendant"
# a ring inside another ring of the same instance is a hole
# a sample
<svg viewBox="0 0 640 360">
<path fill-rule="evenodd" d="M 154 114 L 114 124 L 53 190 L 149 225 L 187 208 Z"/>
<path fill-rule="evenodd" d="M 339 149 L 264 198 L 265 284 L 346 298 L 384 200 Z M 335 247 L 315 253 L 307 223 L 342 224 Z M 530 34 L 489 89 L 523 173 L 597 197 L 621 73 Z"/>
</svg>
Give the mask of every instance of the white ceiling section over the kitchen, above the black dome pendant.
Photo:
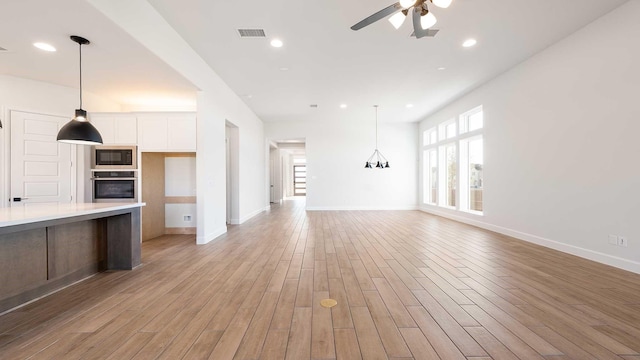
<svg viewBox="0 0 640 360">
<path fill-rule="evenodd" d="M 0 74 L 78 88 L 125 105 L 195 104 L 196 88 L 84 0 L 1 0 Z M 54 53 L 32 44 L 47 42 Z M 90 109 L 88 109 L 90 110 Z"/>
</svg>

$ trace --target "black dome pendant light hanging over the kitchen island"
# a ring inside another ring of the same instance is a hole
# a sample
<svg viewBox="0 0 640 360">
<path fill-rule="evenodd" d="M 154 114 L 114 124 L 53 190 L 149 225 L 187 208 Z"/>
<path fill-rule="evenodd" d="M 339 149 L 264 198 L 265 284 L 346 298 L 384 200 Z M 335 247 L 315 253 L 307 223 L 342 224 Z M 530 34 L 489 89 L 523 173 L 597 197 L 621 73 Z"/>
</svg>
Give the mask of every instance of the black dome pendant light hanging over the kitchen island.
<svg viewBox="0 0 640 360">
<path fill-rule="evenodd" d="M 76 35 L 72 35 L 71 40 L 78 43 L 80 48 L 80 108 L 76 109 L 75 117 L 60 129 L 57 140 L 67 144 L 100 145 L 102 136 L 89 122 L 87 111 L 82 109 L 82 45 L 90 42 Z"/>
</svg>

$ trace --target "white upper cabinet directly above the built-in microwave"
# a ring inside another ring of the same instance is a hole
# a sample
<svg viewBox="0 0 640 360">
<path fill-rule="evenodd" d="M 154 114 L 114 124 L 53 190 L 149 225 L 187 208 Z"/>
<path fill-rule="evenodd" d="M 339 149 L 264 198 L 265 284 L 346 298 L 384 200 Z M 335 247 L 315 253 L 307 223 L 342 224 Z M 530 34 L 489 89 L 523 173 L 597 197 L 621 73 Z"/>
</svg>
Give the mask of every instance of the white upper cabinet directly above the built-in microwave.
<svg viewBox="0 0 640 360">
<path fill-rule="evenodd" d="M 98 129 L 105 145 L 134 145 L 138 142 L 138 125 L 135 116 L 92 114 L 90 121 Z"/>
</svg>

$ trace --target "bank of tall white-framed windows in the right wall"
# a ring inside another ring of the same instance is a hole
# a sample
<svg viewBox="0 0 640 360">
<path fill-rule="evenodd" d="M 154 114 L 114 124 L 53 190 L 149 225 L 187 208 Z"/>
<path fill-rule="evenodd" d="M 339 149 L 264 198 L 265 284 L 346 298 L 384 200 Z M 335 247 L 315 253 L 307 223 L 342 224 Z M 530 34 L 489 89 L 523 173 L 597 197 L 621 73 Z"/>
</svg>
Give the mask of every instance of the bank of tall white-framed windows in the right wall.
<svg viewBox="0 0 640 360">
<path fill-rule="evenodd" d="M 469 110 L 423 133 L 423 203 L 483 214 L 484 114 Z"/>
</svg>

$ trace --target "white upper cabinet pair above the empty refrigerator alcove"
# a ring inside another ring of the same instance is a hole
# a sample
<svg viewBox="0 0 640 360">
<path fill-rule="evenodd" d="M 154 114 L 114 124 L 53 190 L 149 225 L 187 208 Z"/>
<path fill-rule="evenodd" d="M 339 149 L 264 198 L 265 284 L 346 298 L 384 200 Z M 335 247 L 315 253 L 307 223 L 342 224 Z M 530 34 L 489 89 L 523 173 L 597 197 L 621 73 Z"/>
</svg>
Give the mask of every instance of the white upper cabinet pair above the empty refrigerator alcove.
<svg viewBox="0 0 640 360">
<path fill-rule="evenodd" d="M 196 151 L 195 114 L 138 117 L 140 151 Z"/>
</svg>

